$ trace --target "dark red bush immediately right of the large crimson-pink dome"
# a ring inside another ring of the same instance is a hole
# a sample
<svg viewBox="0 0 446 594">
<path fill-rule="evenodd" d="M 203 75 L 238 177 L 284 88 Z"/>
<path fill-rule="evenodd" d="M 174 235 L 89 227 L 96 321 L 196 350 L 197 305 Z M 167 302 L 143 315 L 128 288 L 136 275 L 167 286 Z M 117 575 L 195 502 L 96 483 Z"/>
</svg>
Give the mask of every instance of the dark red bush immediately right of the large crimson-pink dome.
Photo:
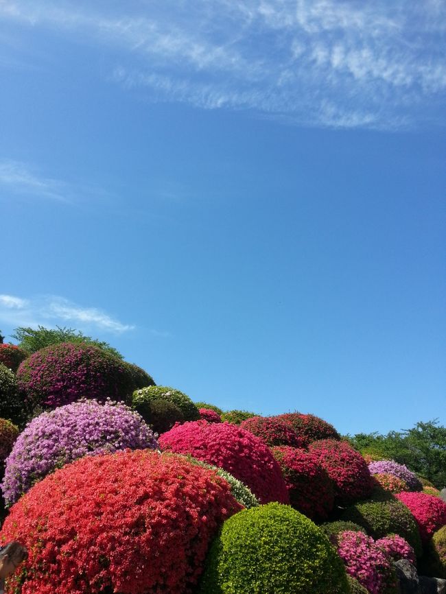
<svg viewBox="0 0 446 594">
<path fill-rule="evenodd" d="M 281 446 L 271 451 L 280 464 L 291 505 L 310 519 L 327 519 L 334 501 L 327 471 L 303 449 Z"/>
</svg>

